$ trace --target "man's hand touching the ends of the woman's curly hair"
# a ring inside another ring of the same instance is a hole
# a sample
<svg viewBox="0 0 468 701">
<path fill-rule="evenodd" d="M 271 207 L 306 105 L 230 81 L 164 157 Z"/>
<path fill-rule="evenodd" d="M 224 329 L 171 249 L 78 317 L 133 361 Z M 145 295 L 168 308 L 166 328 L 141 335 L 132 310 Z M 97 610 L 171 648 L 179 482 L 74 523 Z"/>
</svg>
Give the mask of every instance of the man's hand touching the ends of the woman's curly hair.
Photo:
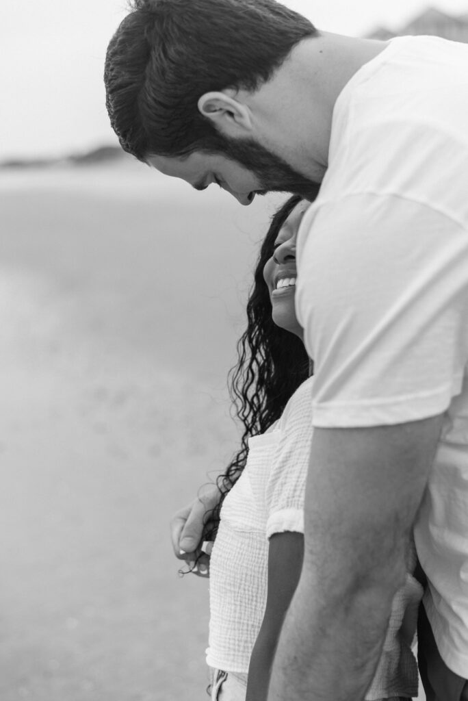
<svg viewBox="0 0 468 701">
<path fill-rule="evenodd" d="M 201 577 L 209 576 L 209 554 L 212 544 L 200 543 L 203 532 L 205 513 L 213 509 L 221 494 L 216 484 L 209 484 L 200 490 L 199 496 L 191 503 L 177 511 L 171 519 L 170 531 L 174 554 L 179 560 L 184 560 L 189 567 L 198 558 L 194 574 Z"/>
</svg>

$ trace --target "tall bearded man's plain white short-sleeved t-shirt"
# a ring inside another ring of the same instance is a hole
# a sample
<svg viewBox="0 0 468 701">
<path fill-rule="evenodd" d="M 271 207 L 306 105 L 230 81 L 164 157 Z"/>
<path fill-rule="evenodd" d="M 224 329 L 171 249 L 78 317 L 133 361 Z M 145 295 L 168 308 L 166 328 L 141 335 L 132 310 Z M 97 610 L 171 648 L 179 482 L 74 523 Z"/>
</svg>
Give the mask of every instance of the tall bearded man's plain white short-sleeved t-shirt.
<svg viewBox="0 0 468 701">
<path fill-rule="evenodd" d="M 468 670 L 468 46 L 390 42 L 333 111 L 329 168 L 298 237 L 313 425 L 446 412 L 415 526 L 425 607 Z"/>
</svg>

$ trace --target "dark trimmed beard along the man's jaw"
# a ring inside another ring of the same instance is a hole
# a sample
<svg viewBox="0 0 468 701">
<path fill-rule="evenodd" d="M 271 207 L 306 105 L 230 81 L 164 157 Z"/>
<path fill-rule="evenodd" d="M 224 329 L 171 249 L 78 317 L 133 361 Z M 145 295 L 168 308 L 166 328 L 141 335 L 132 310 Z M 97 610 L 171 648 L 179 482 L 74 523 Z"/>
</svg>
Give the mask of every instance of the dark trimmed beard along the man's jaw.
<svg viewBox="0 0 468 701">
<path fill-rule="evenodd" d="M 261 184 L 261 193 L 290 192 L 312 202 L 320 184 L 298 173 L 280 156 L 261 146 L 254 139 L 223 138 L 223 155 L 237 161 L 254 173 Z"/>
</svg>

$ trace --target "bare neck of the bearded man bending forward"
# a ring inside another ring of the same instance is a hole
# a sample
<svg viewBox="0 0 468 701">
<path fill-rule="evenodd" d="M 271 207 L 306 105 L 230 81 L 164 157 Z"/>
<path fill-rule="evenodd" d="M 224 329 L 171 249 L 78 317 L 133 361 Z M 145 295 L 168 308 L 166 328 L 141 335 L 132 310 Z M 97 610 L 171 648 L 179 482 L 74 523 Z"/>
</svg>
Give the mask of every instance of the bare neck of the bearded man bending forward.
<svg viewBox="0 0 468 701">
<path fill-rule="evenodd" d="M 250 95 L 259 141 L 298 172 L 321 181 L 336 100 L 386 46 L 329 33 L 298 43 L 270 81 Z"/>
</svg>

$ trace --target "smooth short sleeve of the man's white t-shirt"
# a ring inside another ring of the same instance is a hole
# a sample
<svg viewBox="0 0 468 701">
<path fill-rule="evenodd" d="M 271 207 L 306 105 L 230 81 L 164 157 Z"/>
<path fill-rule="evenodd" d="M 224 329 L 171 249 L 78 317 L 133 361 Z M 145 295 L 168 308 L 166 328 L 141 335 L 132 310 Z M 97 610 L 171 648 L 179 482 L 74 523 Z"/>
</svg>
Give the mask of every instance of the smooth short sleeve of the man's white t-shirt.
<svg viewBox="0 0 468 701">
<path fill-rule="evenodd" d="M 467 362 L 462 224 L 413 200 L 365 193 L 312 207 L 299 247 L 313 425 L 380 426 L 445 411 Z"/>
</svg>

